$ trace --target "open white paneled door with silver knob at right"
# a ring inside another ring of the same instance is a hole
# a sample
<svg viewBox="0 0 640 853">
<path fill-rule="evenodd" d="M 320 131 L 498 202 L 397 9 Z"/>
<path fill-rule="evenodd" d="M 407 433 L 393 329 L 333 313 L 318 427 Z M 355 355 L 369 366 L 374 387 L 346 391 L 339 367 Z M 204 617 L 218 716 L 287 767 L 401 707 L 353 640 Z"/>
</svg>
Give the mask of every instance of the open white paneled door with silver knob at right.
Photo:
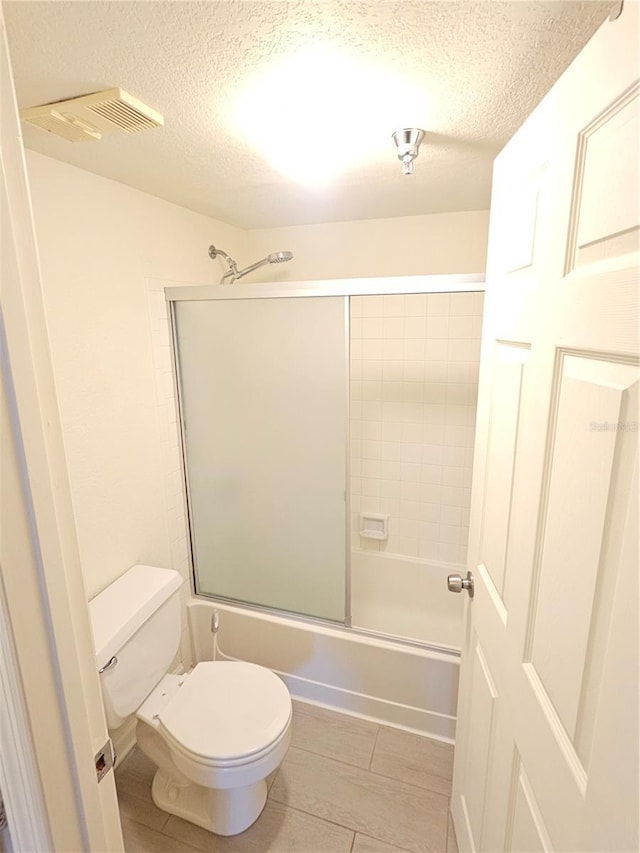
<svg viewBox="0 0 640 853">
<path fill-rule="evenodd" d="M 638 6 L 495 164 L 452 809 L 638 847 Z"/>
</svg>

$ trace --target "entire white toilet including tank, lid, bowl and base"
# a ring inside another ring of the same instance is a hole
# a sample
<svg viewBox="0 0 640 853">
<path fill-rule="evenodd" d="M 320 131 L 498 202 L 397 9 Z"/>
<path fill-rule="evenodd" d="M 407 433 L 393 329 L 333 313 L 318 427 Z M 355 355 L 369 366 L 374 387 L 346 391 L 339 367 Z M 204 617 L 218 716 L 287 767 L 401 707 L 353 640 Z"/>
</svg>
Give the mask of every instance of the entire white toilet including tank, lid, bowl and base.
<svg viewBox="0 0 640 853">
<path fill-rule="evenodd" d="M 133 566 L 89 610 L 109 729 L 136 713 L 136 738 L 158 765 L 155 804 L 218 835 L 258 818 L 266 777 L 291 740 L 291 697 L 270 670 L 207 661 L 168 675 L 180 643 L 182 578 Z"/>
</svg>

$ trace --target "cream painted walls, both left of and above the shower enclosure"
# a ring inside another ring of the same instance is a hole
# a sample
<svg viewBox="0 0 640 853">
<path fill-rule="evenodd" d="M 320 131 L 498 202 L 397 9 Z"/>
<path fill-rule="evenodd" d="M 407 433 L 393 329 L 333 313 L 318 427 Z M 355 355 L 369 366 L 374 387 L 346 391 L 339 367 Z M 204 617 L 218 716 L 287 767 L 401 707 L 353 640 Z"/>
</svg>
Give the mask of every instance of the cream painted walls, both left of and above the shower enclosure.
<svg viewBox="0 0 640 853">
<path fill-rule="evenodd" d="M 210 243 L 241 266 L 296 253 L 264 279 L 485 267 L 486 211 L 244 232 L 34 152 L 27 167 L 89 597 L 136 562 L 185 568 L 161 286 L 216 282 Z"/>
</svg>

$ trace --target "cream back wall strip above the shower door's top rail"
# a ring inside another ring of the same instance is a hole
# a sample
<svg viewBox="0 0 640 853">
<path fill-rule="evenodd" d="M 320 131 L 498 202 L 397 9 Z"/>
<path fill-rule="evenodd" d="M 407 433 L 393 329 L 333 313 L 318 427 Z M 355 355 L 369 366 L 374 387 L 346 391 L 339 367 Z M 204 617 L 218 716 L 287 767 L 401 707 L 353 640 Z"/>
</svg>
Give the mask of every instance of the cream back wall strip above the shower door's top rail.
<svg viewBox="0 0 640 853">
<path fill-rule="evenodd" d="M 474 210 L 270 228 L 249 232 L 249 254 L 294 253 L 255 274 L 264 281 L 483 273 L 488 227 L 489 211 Z"/>
</svg>

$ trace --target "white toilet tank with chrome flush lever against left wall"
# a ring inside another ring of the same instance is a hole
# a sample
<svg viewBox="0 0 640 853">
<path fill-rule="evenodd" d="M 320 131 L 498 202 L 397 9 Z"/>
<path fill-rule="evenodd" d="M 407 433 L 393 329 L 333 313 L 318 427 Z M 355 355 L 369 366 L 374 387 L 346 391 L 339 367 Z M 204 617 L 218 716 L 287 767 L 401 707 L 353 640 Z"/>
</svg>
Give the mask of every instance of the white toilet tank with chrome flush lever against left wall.
<svg viewBox="0 0 640 853">
<path fill-rule="evenodd" d="M 110 729 L 121 726 L 166 674 L 180 645 L 179 589 L 172 569 L 132 566 L 89 602 Z"/>
</svg>

